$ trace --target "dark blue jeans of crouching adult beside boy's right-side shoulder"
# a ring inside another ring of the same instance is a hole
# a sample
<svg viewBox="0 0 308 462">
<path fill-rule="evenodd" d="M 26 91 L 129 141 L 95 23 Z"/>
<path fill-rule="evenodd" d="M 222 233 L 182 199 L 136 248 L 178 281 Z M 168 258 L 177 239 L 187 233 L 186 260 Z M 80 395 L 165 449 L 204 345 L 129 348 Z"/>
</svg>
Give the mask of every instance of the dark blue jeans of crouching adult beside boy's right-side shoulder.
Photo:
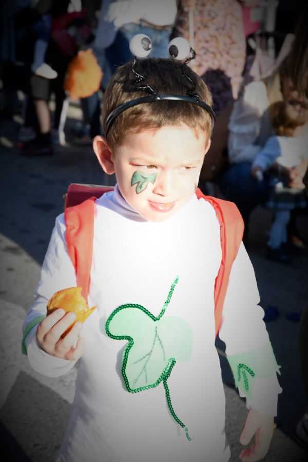
<svg viewBox="0 0 308 462">
<path fill-rule="evenodd" d="M 234 164 L 224 172 L 219 184 L 225 199 L 238 206 L 245 225 L 253 209 L 264 203 L 269 187 L 266 176 L 262 181 L 252 177 L 251 168 L 250 162 Z"/>
</svg>

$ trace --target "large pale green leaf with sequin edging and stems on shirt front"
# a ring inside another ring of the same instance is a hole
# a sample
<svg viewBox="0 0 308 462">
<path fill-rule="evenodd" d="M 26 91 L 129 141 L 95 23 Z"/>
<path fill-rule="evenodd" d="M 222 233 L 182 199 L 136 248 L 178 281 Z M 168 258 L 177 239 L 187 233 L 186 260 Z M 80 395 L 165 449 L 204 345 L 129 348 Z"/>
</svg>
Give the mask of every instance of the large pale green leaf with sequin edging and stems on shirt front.
<svg viewBox="0 0 308 462">
<path fill-rule="evenodd" d="M 114 340 L 128 340 L 122 364 L 127 391 L 138 393 L 163 382 L 168 409 L 190 441 L 187 427 L 172 407 L 167 384 L 176 362 L 187 361 L 192 349 L 192 332 L 186 321 L 176 317 L 163 318 L 178 280 L 177 276 L 157 317 L 142 305 L 126 303 L 111 313 L 105 329 Z"/>
</svg>

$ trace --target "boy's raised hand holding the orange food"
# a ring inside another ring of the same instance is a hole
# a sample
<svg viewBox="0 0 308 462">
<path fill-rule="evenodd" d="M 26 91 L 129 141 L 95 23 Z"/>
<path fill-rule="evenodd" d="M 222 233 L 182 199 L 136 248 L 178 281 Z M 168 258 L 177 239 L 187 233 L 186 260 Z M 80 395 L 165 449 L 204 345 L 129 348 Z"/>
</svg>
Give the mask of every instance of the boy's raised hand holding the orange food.
<svg viewBox="0 0 308 462">
<path fill-rule="evenodd" d="M 69 361 L 76 361 L 81 357 L 84 341 L 78 336 L 82 329 L 82 322 L 75 322 L 66 336 L 61 338 L 75 318 L 75 313 L 65 313 L 64 310 L 59 309 L 38 324 L 36 339 L 46 353 Z"/>
</svg>

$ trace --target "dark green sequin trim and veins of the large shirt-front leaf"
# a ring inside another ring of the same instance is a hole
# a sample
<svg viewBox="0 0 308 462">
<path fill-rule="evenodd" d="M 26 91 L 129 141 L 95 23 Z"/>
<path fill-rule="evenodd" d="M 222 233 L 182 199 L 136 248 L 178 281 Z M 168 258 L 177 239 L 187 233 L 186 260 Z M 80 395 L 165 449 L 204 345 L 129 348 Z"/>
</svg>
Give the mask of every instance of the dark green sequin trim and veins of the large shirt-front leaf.
<svg viewBox="0 0 308 462">
<path fill-rule="evenodd" d="M 128 340 L 128 344 L 127 344 L 127 347 L 125 348 L 125 351 L 124 351 L 124 355 L 123 355 L 123 363 L 122 363 L 122 376 L 123 376 L 123 379 L 124 379 L 124 383 L 125 383 L 125 387 L 127 389 L 127 391 L 129 393 L 139 393 L 141 391 L 145 391 L 145 390 L 149 390 L 149 389 L 152 389 L 152 388 L 155 388 L 157 387 L 160 382 L 163 382 L 164 384 L 164 389 L 165 389 L 165 394 L 166 394 L 166 401 L 167 401 L 167 406 L 168 406 L 168 409 L 172 415 L 172 417 L 175 419 L 175 421 L 177 422 L 177 424 L 179 424 L 184 430 L 185 430 L 185 433 L 186 433 L 186 437 L 188 439 L 188 441 L 191 441 L 191 438 L 188 434 L 188 429 L 187 427 L 185 426 L 185 424 L 183 424 L 183 422 L 179 419 L 179 417 L 176 415 L 175 411 L 174 411 L 174 408 L 172 407 L 172 403 L 171 403 L 171 398 L 170 398 L 170 392 L 169 392 L 169 388 L 168 388 L 168 385 L 167 385 L 167 379 L 169 378 L 170 374 L 171 374 L 171 371 L 172 371 L 172 368 L 174 368 L 174 365 L 176 364 L 176 359 L 171 357 L 171 358 L 168 358 L 167 360 L 167 364 L 165 365 L 162 373 L 160 374 L 159 378 L 149 384 L 149 385 L 145 385 L 145 386 L 142 386 L 142 387 L 137 387 L 137 388 L 131 388 L 130 387 L 130 384 L 129 384 L 129 380 L 128 380 L 128 377 L 127 377 L 127 373 L 126 373 L 126 367 L 127 367 L 127 361 L 128 361 L 128 356 L 129 356 L 129 352 L 130 350 L 132 349 L 133 347 L 133 344 L 134 344 L 134 340 L 131 336 L 129 335 L 114 335 L 114 334 L 111 334 L 110 332 L 110 323 L 112 321 L 112 319 L 114 318 L 115 315 L 117 315 L 117 313 L 119 313 L 120 311 L 122 310 L 125 310 L 125 309 L 131 309 L 131 308 L 137 308 L 138 310 L 141 310 L 144 314 L 146 314 L 152 321 L 159 321 L 162 316 L 164 315 L 166 309 L 167 309 L 167 306 L 168 304 L 170 303 L 170 300 L 171 300 L 171 297 L 172 297 L 172 293 L 174 292 L 174 289 L 175 289 L 175 286 L 176 284 L 178 283 L 179 281 L 179 277 L 177 276 L 174 283 L 171 284 L 171 287 L 170 287 L 170 291 L 168 293 L 168 296 L 167 296 L 167 299 L 162 307 L 162 310 L 160 312 L 160 314 L 156 317 L 154 316 L 152 313 L 150 313 L 144 306 L 142 305 L 139 305 L 137 303 L 126 303 L 124 305 L 121 305 L 119 306 L 117 309 L 115 309 L 111 315 L 109 316 L 109 318 L 107 319 L 106 321 L 106 325 L 105 325 L 105 329 L 106 329 L 106 334 L 114 339 L 114 340 Z M 155 347 L 155 344 L 156 342 L 159 343 L 160 345 L 160 348 L 161 348 L 161 352 L 162 352 L 162 355 L 163 355 L 163 358 L 165 360 L 165 351 L 164 351 L 164 347 L 163 347 L 163 344 L 162 344 L 162 341 L 158 335 L 158 332 L 157 332 L 157 329 L 155 330 L 155 337 L 154 337 L 154 340 L 153 340 L 153 343 L 152 343 L 152 346 L 151 346 L 151 349 L 149 351 L 149 353 L 147 353 L 146 355 L 144 355 L 143 357 L 139 358 L 137 361 L 134 361 L 134 364 L 136 364 L 137 362 L 140 362 L 142 360 L 145 360 L 145 363 L 143 365 L 143 368 L 141 369 L 139 375 L 137 376 L 137 378 L 134 380 L 134 384 L 137 383 L 138 379 L 140 378 L 141 374 L 145 374 L 145 377 L 146 377 L 146 381 L 147 381 L 147 371 L 146 371 L 146 365 L 147 365 L 147 362 L 149 360 L 149 357 Z"/>
</svg>

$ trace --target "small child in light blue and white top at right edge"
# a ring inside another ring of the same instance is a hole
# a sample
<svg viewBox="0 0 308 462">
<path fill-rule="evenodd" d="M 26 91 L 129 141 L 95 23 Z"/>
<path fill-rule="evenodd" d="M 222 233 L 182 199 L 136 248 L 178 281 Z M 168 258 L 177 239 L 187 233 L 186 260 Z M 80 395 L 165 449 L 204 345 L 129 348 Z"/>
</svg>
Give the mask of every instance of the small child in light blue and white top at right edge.
<svg viewBox="0 0 308 462">
<path fill-rule="evenodd" d="M 308 160 L 308 136 L 306 124 L 308 108 L 300 104 L 279 101 L 271 108 L 272 124 L 277 133 L 270 137 L 252 165 L 252 175 L 258 178 L 258 172 L 264 172 L 270 167 L 276 173 L 271 174 L 271 188 L 266 207 L 273 208 L 274 221 L 269 231 L 267 242 L 267 257 L 281 263 L 290 263 L 284 244 L 287 242 L 287 224 L 290 221 L 291 210 L 304 208 L 307 201 L 304 185 L 300 181 L 298 187 L 291 187 L 290 178 L 296 165 L 304 159 Z"/>
</svg>

